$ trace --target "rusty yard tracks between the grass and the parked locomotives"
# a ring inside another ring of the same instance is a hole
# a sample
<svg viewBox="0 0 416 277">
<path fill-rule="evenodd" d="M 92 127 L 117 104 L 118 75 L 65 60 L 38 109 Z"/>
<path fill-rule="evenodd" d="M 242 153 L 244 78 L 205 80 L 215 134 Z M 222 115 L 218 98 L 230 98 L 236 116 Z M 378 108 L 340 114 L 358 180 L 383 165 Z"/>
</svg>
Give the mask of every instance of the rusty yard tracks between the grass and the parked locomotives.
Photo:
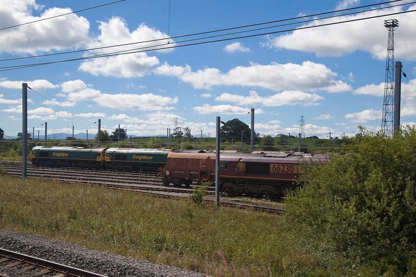
<svg viewBox="0 0 416 277">
<path fill-rule="evenodd" d="M 9 176 L 22 177 L 21 162 L 0 161 L 0 165 L 8 168 Z M 64 167 L 48 168 L 36 167 L 31 163 L 27 164 L 27 177 L 43 178 L 46 180 L 55 180 L 65 183 L 95 185 L 111 189 L 138 191 L 156 195 L 158 197 L 189 197 L 195 191 L 195 187 L 198 186 L 196 183 L 192 184 L 190 187 L 175 187 L 172 185 L 165 186 L 162 185 L 160 177 L 157 177 L 155 173 L 128 173 L 87 169 L 81 170 Z M 215 188 L 208 187 L 207 196 L 204 197 L 204 200 L 215 202 L 214 194 Z M 233 200 L 231 197 L 221 197 L 220 204 L 224 206 L 239 207 L 242 209 L 255 209 L 270 213 L 284 212 L 284 208 L 282 207 L 241 203 Z"/>
</svg>

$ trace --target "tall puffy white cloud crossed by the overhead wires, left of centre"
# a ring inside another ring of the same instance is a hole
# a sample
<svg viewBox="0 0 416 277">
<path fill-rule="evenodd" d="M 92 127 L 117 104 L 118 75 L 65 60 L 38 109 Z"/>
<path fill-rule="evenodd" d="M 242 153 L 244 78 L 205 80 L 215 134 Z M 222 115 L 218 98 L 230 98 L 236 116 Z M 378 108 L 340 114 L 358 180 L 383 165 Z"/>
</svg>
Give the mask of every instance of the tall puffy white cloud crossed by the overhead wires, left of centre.
<svg viewBox="0 0 416 277">
<path fill-rule="evenodd" d="M 97 50 L 98 54 L 126 51 L 135 48 L 142 48 L 143 50 L 157 49 L 163 47 L 157 45 L 166 44 L 168 41 L 162 40 L 168 38 L 165 33 L 150 28 L 144 24 L 141 24 L 136 30 L 130 32 L 127 27 L 127 23 L 119 17 L 112 17 L 108 20 L 108 22 L 100 22 L 99 29 L 101 31 L 100 36 L 98 36 L 98 38 L 90 44 L 89 47 L 95 48 L 112 46 L 114 45 L 114 42 L 117 42 L 119 45 L 132 43 L 134 43 L 134 45 L 105 48 Z M 172 40 L 170 40 L 169 46 L 174 45 L 175 44 L 172 43 Z M 171 49 L 158 51 L 167 52 L 171 51 Z M 103 75 L 117 78 L 131 78 L 143 77 L 158 64 L 159 60 L 155 56 L 148 56 L 144 52 L 139 52 L 88 60 L 81 63 L 78 69 L 95 76 Z"/>
</svg>

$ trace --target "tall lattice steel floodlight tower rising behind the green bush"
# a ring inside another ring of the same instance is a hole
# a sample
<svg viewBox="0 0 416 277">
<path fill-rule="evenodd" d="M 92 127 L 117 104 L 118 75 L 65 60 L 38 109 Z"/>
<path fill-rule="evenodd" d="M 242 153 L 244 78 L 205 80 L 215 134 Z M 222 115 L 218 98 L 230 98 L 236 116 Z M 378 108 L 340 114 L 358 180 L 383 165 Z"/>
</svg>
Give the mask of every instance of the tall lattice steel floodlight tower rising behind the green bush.
<svg viewBox="0 0 416 277">
<path fill-rule="evenodd" d="M 381 116 L 381 133 L 393 137 L 394 119 L 394 30 L 399 27 L 397 19 L 384 20 L 384 27 L 389 30 L 386 59 L 386 81 L 384 83 L 383 114 Z"/>
</svg>

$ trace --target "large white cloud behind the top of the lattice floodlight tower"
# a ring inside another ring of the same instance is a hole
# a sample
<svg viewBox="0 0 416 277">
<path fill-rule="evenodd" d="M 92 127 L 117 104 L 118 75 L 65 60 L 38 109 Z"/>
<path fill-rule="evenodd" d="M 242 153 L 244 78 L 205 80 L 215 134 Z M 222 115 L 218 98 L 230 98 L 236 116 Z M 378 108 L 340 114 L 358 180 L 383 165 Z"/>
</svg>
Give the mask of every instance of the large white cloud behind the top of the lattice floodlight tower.
<svg viewBox="0 0 416 277">
<path fill-rule="evenodd" d="M 341 5 L 353 4 L 351 1 L 343 1 Z M 408 6 L 407 10 L 415 6 Z M 339 21 L 355 20 L 364 17 L 378 16 L 391 12 L 404 11 L 402 7 L 391 7 L 388 10 L 372 10 L 357 15 L 348 15 L 319 21 L 313 21 L 303 27 L 321 24 L 330 24 Z M 400 45 L 395 49 L 396 58 L 416 59 L 416 45 L 414 38 L 416 30 L 413 28 L 416 21 L 416 13 L 394 15 L 400 22 L 395 36 L 395 44 Z M 350 23 L 335 24 L 305 30 L 296 30 L 290 34 L 269 38 L 264 46 L 286 48 L 299 51 L 313 52 L 317 56 L 341 56 L 345 53 L 363 50 L 370 52 L 380 60 L 386 58 L 386 40 L 388 31 L 383 26 L 383 20 L 389 20 L 391 16 L 354 21 Z"/>
</svg>

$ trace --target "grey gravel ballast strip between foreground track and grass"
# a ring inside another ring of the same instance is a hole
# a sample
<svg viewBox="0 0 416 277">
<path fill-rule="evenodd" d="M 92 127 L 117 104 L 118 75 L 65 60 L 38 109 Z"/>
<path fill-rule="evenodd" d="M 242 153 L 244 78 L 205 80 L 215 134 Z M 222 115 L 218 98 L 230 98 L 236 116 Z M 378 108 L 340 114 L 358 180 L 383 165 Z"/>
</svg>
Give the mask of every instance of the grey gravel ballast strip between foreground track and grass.
<svg viewBox="0 0 416 277">
<path fill-rule="evenodd" d="M 205 274 L 90 250 L 48 237 L 2 229 L 0 248 L 108 277 L 207 277 Z"/>
</svg>

